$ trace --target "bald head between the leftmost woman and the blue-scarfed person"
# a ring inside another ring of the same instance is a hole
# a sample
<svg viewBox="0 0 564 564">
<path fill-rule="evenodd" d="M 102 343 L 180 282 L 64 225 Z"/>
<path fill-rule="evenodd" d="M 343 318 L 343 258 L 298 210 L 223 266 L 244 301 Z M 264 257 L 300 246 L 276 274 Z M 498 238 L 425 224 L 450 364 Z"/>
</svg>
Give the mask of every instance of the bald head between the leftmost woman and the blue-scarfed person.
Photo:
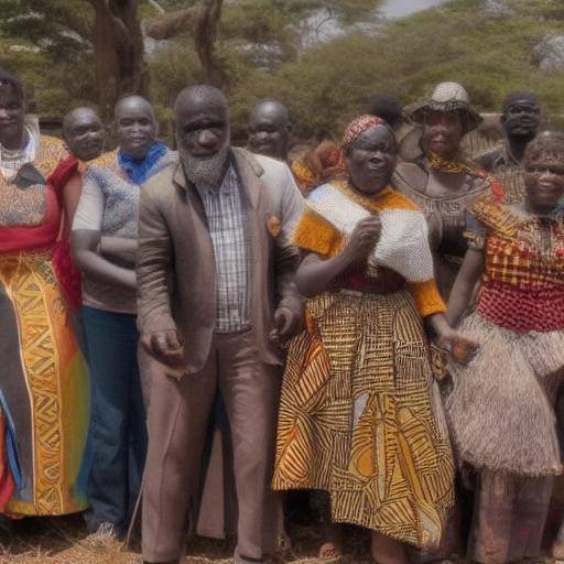
<svg viewBox="0 0 564 564">
<path fill-rule="evenodd" d="M 63 137 L 80 161 L 91 161 L 104 150 L 104 124 L 91 108 L 76 108 L 63 118 Z"/>
</svg>

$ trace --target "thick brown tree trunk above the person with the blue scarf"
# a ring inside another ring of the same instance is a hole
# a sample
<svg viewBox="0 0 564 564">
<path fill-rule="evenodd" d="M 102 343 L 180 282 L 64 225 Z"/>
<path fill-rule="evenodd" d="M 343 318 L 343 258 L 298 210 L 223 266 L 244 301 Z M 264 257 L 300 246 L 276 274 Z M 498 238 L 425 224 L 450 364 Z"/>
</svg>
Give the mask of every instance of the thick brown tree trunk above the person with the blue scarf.
<svg viewBox="0 0 564 564">
<path fill-rule="evenodd" d="M 144 62 L 139 0 L 89 0 L 95 11 L 94 54 L 100 112 L 110 118 L 118 99 L 127 94 L 147 95 L 149 74 Z"/>
</svg>

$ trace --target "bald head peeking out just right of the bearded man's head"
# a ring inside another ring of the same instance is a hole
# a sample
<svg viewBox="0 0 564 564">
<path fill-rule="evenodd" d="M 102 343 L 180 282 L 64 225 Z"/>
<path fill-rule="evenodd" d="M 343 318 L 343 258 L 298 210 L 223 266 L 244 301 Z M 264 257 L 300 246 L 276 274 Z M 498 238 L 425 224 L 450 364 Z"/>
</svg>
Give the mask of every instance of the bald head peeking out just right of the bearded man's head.
<svg viewBox="0 0 564 564">
<path fill-rule="evenodd" d="M 278 100 L 261 100 L 249 116 L 249 149 L 285 161 L 290 140 L 290 113 Z"/>
</svg>

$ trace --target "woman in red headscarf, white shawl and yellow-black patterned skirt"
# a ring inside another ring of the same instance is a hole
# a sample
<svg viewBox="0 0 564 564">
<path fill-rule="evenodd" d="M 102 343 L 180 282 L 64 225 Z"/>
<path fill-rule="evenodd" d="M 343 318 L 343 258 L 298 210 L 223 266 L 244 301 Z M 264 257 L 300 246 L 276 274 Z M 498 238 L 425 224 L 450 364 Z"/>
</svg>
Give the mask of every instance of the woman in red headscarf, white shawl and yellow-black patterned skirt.
<svg viewBox="0 0 564 564">
<path fill-rule="evenodd" d="M 294 234 L 307 329 L 290 345 L 276 489 L 330 494 L 335 522 L 372 530 L 372 556 L 433 546 L 453 502 L 453 458 L 422 318 L 465 358 L 433 279 L 423 214 L 390 187 L 393 131 L 361 116 L 341 174 L 315 188 Z"/>
</svg>

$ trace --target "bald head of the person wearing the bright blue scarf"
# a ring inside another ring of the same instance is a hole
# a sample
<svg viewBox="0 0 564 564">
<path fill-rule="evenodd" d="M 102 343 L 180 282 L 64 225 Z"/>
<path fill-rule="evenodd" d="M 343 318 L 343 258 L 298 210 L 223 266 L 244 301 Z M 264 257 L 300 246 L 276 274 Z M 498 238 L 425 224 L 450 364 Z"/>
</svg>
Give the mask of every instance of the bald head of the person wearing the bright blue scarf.
<svg viewBox="0 0 564 564">
<path fill-rule="evenodd" d="M 116 135 L 121 151 L 133 159 L 144 159 L 156 140 L 156 117 L 142 96 L 126 96 L 113 109 Z"/>
</svg>

